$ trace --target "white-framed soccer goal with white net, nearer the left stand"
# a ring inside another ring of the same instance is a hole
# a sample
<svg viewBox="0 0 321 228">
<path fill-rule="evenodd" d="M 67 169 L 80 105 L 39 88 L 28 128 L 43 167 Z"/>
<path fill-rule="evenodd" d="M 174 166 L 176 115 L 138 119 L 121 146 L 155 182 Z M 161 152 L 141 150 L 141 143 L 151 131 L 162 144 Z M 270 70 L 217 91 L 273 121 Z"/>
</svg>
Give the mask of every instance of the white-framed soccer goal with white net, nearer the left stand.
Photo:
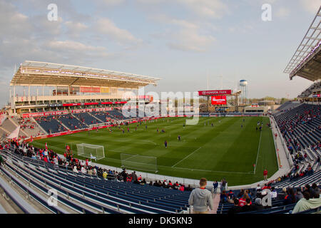
<svg viewBox="0 0 321 228">
<path fill-rule="evenodd" d="M 91 145 L 86 143 L 77 144 L 77 155 L 100 160 L 105 157 L 103 145 Z"/>
</svg>

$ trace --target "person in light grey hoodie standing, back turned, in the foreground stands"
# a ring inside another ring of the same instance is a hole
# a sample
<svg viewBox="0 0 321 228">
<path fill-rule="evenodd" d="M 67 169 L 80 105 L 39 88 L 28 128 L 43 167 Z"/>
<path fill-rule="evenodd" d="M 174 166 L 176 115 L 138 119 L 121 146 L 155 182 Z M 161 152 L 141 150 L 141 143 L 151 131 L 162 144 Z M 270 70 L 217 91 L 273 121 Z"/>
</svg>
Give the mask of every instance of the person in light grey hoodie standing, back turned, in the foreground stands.
<svg viewBox="0 0 321 228">
<path fill-rule="evenodd" d="M 207 180 L 200 179 L 200 187 L 190 192 L 188 204 L 193 206 L 194 214 L 208 214 L 208 207 L 213 210 L 213 197 L 210 191 L 206 190 Z"/>
</svg>

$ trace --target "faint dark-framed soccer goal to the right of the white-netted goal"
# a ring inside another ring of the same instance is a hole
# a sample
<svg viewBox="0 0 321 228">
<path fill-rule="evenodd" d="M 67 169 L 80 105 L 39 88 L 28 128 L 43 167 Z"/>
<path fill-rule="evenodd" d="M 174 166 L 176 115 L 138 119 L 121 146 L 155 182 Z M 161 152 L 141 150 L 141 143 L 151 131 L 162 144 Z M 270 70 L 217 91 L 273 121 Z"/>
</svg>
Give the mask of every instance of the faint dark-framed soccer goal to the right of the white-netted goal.
<svg viewBox="0 0 321 228">
<path fill-rule="evenodd" d="M 157 157 L 121 153 L 121 165 L 133 170 L 158 172 Z"/>
</svg>

